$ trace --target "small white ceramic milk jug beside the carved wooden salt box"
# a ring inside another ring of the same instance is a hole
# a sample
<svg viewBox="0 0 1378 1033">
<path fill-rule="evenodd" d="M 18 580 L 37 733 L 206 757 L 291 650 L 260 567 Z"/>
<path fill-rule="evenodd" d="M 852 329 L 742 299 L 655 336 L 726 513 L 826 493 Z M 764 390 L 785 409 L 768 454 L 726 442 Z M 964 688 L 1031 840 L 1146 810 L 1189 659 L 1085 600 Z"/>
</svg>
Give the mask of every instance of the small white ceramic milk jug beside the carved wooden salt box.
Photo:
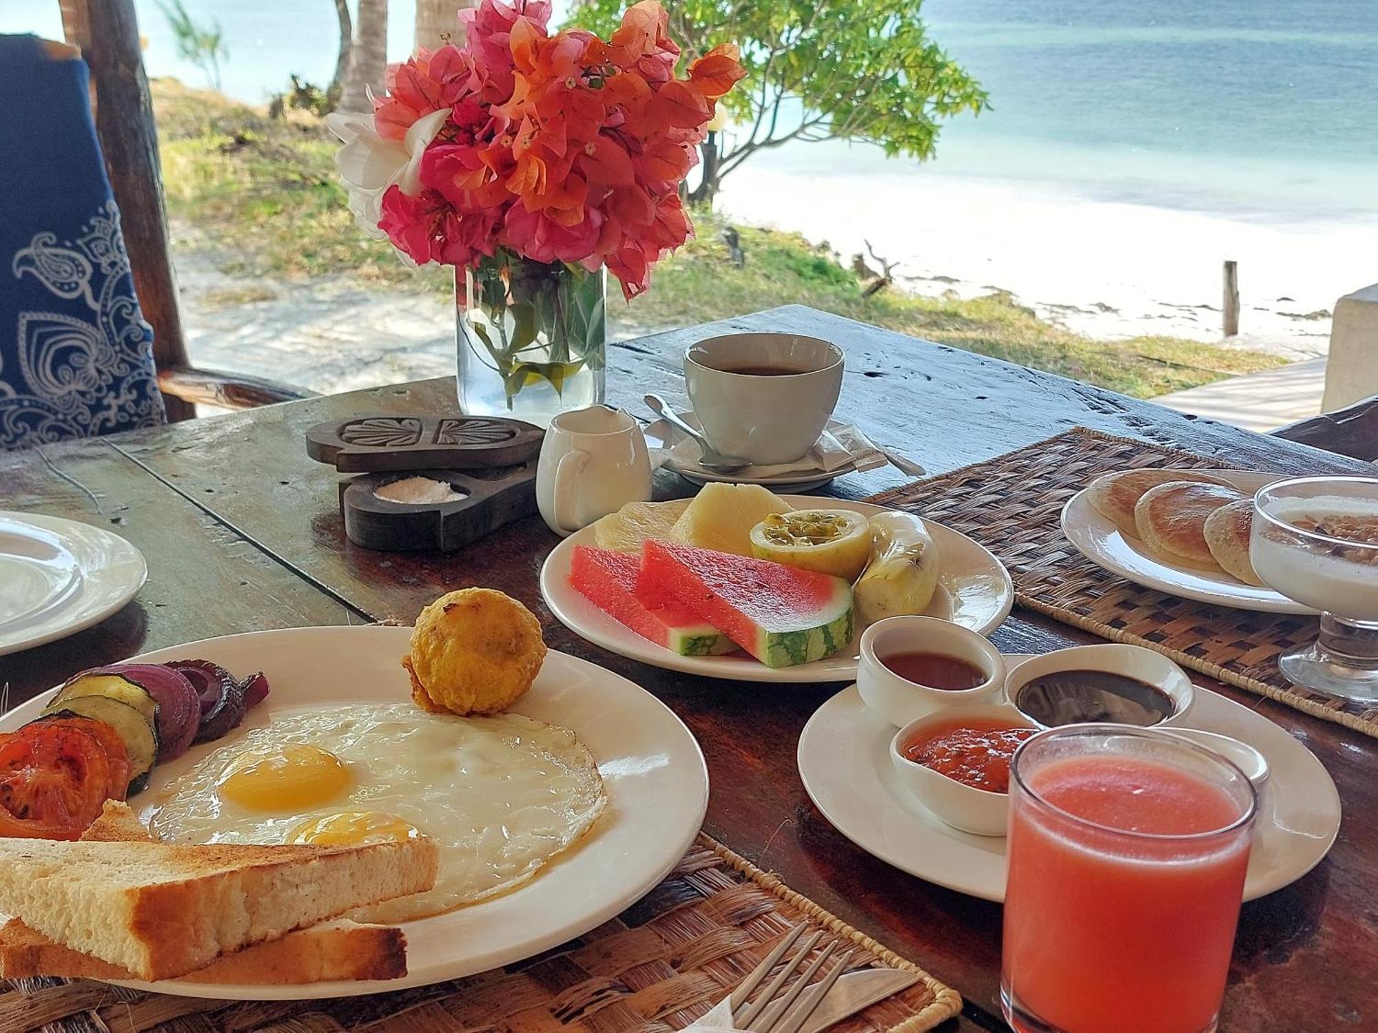
<svg viewBox="0 0 1378 1033">
<path fill-rule="evenodd" d="M 628 413 L 591 405 L 550 421 L 536 464 L 536 505 L 553 532 L 573 534 L 626 503 L 649 500 L 646 438 Z"/>
</svg>

